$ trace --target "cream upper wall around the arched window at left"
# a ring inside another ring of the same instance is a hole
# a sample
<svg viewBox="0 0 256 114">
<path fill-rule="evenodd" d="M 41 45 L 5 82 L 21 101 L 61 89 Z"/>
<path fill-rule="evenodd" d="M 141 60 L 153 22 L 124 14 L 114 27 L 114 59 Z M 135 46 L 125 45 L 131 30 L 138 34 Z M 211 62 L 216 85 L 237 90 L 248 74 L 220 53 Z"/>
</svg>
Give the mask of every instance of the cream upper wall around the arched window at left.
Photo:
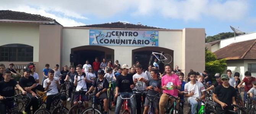
<svg viewBox="0 0 256 114">
<path fill-rule="evenodd" d="M 39 62 L 39 24 L 0 23 L 0 46 L 27 44 L 33 46 L 33 62 Z"/>
</svg>

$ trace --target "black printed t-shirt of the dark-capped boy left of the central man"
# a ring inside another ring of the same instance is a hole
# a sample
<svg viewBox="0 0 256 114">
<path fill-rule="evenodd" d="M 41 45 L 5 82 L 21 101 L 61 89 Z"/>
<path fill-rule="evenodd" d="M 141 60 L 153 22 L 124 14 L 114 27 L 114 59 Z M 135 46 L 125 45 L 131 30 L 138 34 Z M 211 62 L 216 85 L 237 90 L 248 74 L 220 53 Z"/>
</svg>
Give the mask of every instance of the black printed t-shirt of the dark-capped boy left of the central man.
<svg viewBox="0 0 256 114">
<path fill-rule="evenodd" d="M 97 92 L 99 92 L 103 89 L 108 89 L 109 88 L 109 83 L 108 83 L 107 79 L 103 78 L 102 81 L 100 81 L 100 79 L 99 79 L 98 82 L 97 82 L 97 79 L 95 79 L 95 83 L 92 84 L 93 87 L 96 87 L 95 93 L 97 93 Z M 105 81 L 104 85 L 103 85 L 103 81 Z M 107 91 L 106 91 L 106 93 L 107 93 Z"/>
</svg>

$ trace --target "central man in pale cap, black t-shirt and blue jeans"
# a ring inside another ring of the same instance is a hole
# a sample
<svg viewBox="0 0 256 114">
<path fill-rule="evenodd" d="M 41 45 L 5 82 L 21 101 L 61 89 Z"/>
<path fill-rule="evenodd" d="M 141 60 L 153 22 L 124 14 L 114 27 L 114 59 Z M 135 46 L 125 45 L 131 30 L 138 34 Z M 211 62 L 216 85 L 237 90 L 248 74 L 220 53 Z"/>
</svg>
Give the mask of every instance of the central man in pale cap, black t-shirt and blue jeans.
<svg viewBox="0 0 256 114">
<path fill-rule="evenodd" d="M 123 98 L 130 98 L 133 95 L 133 92 L 131 90 L 134 88 L 133 77 L 128 74 L 130 67 L 128 67 L 127 64 L 123 64 L 122 69 L 122 73 L 117 77 L 116 81 L 117 85 L 115 88 L 115 98 L 117 98 L 117 105 L 115 107 L 115 114 L 119 114 L 120 107 L 123 101 L 122 98 L 118 96 L 118 93 L 120 93 Z M 135 98 L 132 97 L 128 101 L 131 106 L 131 114 L 136 114 Z"/>
</svg>

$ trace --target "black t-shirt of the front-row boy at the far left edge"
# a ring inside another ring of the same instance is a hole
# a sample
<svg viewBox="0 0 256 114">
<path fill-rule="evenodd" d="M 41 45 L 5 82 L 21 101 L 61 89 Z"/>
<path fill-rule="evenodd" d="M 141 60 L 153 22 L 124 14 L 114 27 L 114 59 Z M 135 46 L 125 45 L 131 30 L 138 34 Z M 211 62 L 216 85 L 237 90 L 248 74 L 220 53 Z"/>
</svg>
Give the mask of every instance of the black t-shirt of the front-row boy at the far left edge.
<svg viewBox="0 0 256 114">
<path fill-rule="evenodd" d="M 11 79 L 9 82 L 0 81 L 0 95 L 4 97 L 13 97 L 15 95 L 15 86 L 18 83 Z"/>
</svg>

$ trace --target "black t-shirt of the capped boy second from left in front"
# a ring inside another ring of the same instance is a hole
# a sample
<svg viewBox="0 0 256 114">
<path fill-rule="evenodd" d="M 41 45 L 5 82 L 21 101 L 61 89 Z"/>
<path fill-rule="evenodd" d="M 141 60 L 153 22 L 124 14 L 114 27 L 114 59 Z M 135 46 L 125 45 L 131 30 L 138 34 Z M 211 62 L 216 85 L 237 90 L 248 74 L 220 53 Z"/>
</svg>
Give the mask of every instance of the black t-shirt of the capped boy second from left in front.
<svg viewBox="0 0 256 114">
<path fill-rule="evenodd" d="M 36 84 L 36 81 L 33 76 L 29 76 L 28 79 L 22 76 L 21 79 L 19 79 L 19 86 L 21 86 L 22 88 L 30 87 L 33 84 Z M 32 91 L 36 93 L 36 88 L 33 88 Z"/>
</svg>

